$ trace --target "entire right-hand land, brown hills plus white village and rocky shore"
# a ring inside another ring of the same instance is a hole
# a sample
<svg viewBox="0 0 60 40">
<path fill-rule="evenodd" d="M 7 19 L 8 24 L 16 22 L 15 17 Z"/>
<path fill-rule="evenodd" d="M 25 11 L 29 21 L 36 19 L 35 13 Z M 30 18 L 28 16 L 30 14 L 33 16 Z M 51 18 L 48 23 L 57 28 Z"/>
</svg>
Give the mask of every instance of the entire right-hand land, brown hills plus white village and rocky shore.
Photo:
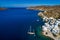
<svg viewBox="0 0 60 40">
<path fill-rule="evenodd" d="M 54 6 L 35 6 L 28 7 L 30 10 L 40 10 L 39 17 L 42 17 L 45 21 L 42 26 L 43 35 L 53 38 L 54 40 L 60 40 L 60 5 Z"/>
</svg>

